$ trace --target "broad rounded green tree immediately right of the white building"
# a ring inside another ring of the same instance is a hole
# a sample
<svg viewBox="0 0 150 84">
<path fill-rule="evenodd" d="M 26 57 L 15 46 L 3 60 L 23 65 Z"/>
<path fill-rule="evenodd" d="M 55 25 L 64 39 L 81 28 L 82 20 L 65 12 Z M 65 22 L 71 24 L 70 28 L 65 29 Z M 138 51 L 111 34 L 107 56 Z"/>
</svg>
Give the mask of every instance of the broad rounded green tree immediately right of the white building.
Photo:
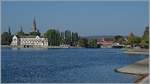
<svg viewBox="0 0 150 84">
<path fill-rule="evenodd" d="M 49 29 L 45 34 L 45 37 L 48 38 L 49 45 L 59 46 L 60 45 L 60 32 L 55 29 Z"/>
</svg>

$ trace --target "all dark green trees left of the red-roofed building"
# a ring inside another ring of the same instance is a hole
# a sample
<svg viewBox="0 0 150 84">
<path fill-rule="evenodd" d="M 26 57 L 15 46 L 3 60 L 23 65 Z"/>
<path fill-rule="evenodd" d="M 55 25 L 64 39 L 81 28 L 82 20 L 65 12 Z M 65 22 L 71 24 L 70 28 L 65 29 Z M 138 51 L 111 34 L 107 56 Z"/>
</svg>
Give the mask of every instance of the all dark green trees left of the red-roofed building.
<svg viewBox="0 0 150 84">
<path fill-rule="evenodd" d="M 22 30 L 22 27 L 19 32 L 16 33 L 18 36 L 29 36 L 29 35 L 41 35 L 39 31 L 25 33 Z M 1 34 L 1 44 L 2 45 L 10 45 L 12 41 L 13 35 L 10 32 L 10 28 L 8 32 L 3 32 Z M 66 30 L 65 32 L 60 32 L 56 29 L 49 29 L 44 33 L 44 37 L 48 38 L 48 43 L 50 46 L 59 46 L 59 45 L 70 45 L 70 46 L 79 46 L 79 47 L 91 47 L 97 48 L 100 47 L 97 45 L 97 40 L 92 39 L 88 40 L 86 38 L 81 38 L 78 33 L 71 32 Z"/>
</svg>

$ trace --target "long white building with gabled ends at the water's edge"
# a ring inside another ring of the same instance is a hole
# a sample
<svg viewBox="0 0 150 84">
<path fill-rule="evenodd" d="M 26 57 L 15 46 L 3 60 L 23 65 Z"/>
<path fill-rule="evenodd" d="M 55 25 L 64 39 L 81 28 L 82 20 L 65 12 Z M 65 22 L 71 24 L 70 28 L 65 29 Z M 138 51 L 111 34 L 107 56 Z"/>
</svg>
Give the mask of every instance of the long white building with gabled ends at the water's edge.
<svg viewBox="0 0 150 84">
<path fill-rule="evenodd" d="M 48 39 L 39 36 L 16 36 L 12 38 L 11 46 L 48 47 Z"/>
</svg>

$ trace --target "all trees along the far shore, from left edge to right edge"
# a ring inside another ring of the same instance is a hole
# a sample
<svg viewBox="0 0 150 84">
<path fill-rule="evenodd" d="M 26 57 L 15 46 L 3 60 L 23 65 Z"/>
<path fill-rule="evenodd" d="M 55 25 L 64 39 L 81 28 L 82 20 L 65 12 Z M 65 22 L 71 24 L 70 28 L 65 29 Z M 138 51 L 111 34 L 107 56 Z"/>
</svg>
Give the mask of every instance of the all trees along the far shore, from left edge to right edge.
<svg viewBox="0 0 150 84">
<path fill-rule="evenodd" d="M 18 36 L 28 36 L 28 35 L 41 35 L 39 31 L 24 33 L 22 28 L 17 32 Z M 3 32 L 1 34 L 1 44 L 10 45 L 12 41 L 12 34 L 10 28 L 8 32 Z M 89 47 L 89 48 L 99 48 L 100 45 L 97 44 L 97 39 L 86 39 L 81 38 L 78 33 L 71 32 L 66 30 L 65 32 L 60 32 L 56 29 L 49 29 L 44 33 L 44 37 L 48 38 L 48 43 L 50 46 L 59 46 L 59 45 L 71 45 L 79 47 Z M 133 33 L 130 33 L 127 37 L 117 35 L 114 37 L 114 42 L 131 45 L 141 46 L 142 48 L 149 48 L 149 27 L 145 28 L 144 34 L 139 37 L 135 36 Z"/>
</svg>

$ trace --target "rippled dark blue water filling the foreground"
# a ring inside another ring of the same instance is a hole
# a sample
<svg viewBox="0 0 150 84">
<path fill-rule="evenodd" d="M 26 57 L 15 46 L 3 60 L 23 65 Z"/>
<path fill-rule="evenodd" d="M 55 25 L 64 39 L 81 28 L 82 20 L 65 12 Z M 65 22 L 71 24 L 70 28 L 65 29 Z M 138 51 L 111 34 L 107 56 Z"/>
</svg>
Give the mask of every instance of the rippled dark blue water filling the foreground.
<svg viewBox="0 0 150 84">
<path fill-rule="evenodd" d="M 134 76 L 114 69 L 143 58 L 119 49 L 2 48 L 2 82 L 131 83 Z"/>
</svg>

